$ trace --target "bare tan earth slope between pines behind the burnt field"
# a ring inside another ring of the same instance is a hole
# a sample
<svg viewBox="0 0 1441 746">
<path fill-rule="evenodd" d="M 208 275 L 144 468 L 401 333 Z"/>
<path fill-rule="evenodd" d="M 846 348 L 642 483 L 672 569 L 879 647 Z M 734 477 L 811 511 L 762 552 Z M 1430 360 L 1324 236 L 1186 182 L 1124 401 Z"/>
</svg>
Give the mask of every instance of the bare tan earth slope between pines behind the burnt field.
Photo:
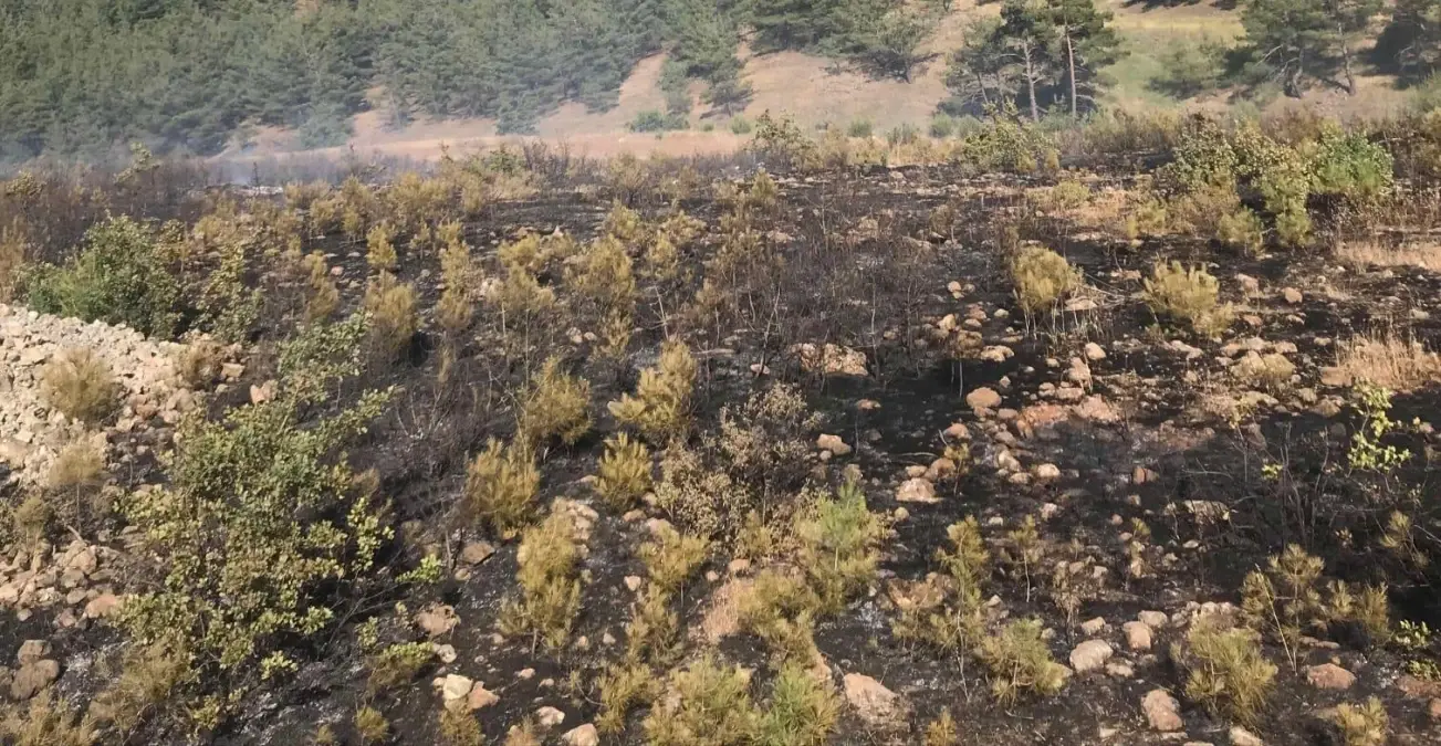
<svg viewBox="0 0 1441 746">
<path fill-rule="evenodd" d="M 1223 94 L 1209 94 L 1197 99 L 1177 101 L 1151 88 L 1161 75 L 1164 56 L 1182 46 L 1203 42 L 1231 42 L 1242 35 L 1239 12 L 1226 9 L 1216 0 L 1179 6 L 1148 6 L 1130 0 L 1104 0 L 1115 13 L 1125 55 L 1107 71 L 1114 81 L 1107 94 L 1108 107 L 1128 111 L 1153 108 L 1218 108 L 1225 107 Z M 911 82 L 875 79 L 834 60 L 801 52 L 754 55 L 741 50 L 744 76 L 755 89 L 744 117 L 755 118 L 765 111 L 784 112 L 806 128 L 827 124 L 844 125 L 865 120 L 873 130 L 885 132 L 904 124 L 922 127 L 947 96 L 947 55 L 960 46 L 965 26 L 983 14 L 999 13 L 999 4 L 977 4 L 973 0 L 955 3 L 953 13 L 942 19 L 922 50 L 929 59 L 916 68 Z M 664 135 L 630 132 L 627 125 L 644 111 L 663 111 L 660 73 L 664 53 L 648 56 L 631 71 L 620 89 L 618 104 L 607 111 L 588 111 L 569 102 L 537 122 L 536 134 L 552 141 L 563 141 L 574 151 L 588 156 L 617 153 L 659 153 L 687 156 L 696 153 L 729 151 L 745 137 L 729 131 L 729 121 L 706 111 L 700 102 L 702 85 L 692 89 L 695 109 L 689 131 Z M 1395 89 L 1385 75 L 1362 75 L 1355 96 L 1342 91 L 1311 91 L 1301 101 L 1277 99 L 1268 108 L 1313 107 L 1333 117 L 1353 114 L 1388 114 L 1399 109 L 1405 95 Z M 347 148 L 414 158 L 435 157 L 442 147 L 460 150 L 493 147 L 522 138 L 497 135 L 494 120 L 419 121 L 392 130 L 385 125 L 383 111 L 369 111 L 356 117 L 354 134 Z M 712 131 L 705 131 L 705 128 Z M 284 132 L 265 138 L 252 153 L 271 154 L 288 150 L 294 138 Z M 340 151 L 343 148 L 333 148 Z M 233 153 L 232 153 L 233 156 Z"/>
</svg>

